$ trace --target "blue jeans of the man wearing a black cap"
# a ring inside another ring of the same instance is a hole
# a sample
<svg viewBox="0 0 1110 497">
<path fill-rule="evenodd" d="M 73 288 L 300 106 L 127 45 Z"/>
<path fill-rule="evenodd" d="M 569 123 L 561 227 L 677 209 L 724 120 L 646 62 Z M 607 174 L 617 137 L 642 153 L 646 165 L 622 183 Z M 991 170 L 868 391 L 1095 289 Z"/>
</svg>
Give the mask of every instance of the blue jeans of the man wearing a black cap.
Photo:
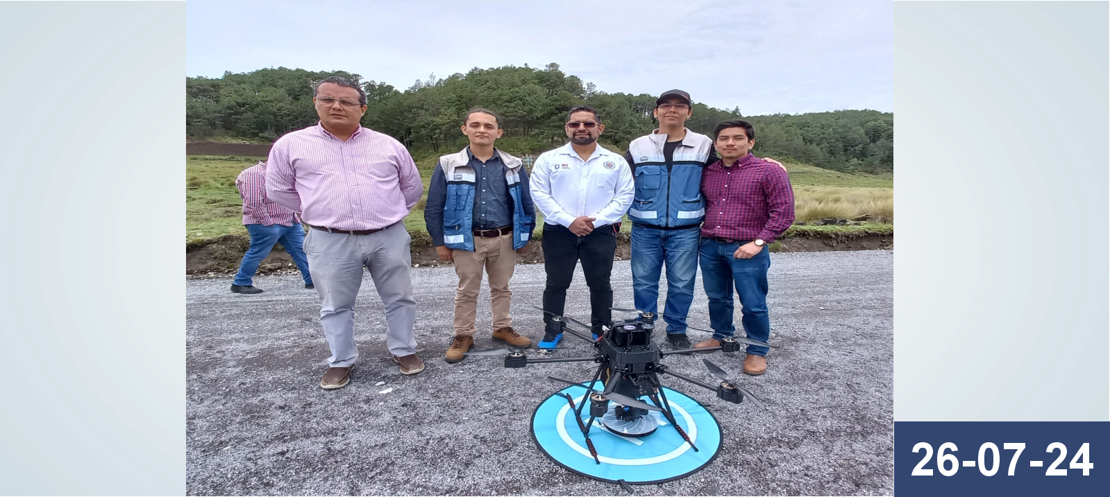
<svg viewBox="0 0 1110 497">
<path fill-rule="evenodd" d="M 697 242 L 702 229 L 656 230 L 632 225 L 632 287 L 636 308 L 658 313 L 659 274 L 667 263 L 667 333 L 686 333 L 686 314 L 694 301 Z"/>
</svg>

